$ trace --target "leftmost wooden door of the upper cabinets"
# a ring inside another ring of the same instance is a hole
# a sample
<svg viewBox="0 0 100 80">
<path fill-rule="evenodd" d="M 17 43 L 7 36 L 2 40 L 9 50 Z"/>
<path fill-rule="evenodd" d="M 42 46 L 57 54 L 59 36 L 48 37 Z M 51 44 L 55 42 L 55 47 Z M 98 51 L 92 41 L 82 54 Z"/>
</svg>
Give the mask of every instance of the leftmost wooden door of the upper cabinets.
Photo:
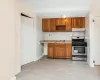
<svg viewBox="0 0 100 80">
<path fill-rule="evenodd" d="M 50 19 L 42 19 L 42 31 L 43 32 L 50 31 Z"/>
</svg>

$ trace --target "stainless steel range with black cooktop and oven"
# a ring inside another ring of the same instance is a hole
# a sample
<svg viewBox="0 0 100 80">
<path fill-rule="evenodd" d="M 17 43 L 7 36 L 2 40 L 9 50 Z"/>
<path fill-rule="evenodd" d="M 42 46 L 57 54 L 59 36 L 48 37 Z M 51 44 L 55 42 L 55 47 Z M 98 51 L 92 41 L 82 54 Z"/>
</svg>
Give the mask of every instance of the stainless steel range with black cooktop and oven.
<svg viewBox="0 0 100 80">
<path fill-rule="evenodd" d="M 72 60 L 87 60 L 86 47 L 84 37 L 72 37 Z"/>
</svg>

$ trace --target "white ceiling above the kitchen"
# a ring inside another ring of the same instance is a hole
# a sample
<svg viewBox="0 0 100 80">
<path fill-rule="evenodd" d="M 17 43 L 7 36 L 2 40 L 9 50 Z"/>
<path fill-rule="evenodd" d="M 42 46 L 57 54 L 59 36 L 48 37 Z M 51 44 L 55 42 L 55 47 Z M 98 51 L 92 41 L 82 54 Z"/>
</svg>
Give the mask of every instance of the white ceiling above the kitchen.
<svg viewBox="0 0 100 80">
<path fill-rule="evenodd" d="M 40 17 L 86 16 L 92 0 L 24 0 Z"/>
</svg>

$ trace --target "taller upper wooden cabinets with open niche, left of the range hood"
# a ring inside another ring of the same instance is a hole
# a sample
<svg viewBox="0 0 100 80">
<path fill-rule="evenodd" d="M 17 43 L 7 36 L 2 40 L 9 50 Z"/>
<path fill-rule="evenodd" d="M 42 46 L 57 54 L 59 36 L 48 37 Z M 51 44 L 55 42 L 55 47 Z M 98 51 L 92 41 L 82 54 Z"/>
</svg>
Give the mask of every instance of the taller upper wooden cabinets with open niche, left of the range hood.
<svg viewBox="0 0 100 80">
<path fill-rule="evenodd" d="M 42 19 L 43 32 L 71 32 L 71 18 Z"/>
</svg>

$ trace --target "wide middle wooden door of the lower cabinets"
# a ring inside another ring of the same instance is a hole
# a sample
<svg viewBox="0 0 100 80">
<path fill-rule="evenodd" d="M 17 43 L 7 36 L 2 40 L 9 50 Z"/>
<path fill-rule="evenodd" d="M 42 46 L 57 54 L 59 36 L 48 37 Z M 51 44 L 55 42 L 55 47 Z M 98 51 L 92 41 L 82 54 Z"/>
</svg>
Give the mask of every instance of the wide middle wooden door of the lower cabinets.
<svg viewBox="0 0 100 80">
<path fill-rule="evenodd" d="M 66 45 L 65 44 L 55 44 L 54 46 L 54 58 L 65 58 Z"/>
</svg>

